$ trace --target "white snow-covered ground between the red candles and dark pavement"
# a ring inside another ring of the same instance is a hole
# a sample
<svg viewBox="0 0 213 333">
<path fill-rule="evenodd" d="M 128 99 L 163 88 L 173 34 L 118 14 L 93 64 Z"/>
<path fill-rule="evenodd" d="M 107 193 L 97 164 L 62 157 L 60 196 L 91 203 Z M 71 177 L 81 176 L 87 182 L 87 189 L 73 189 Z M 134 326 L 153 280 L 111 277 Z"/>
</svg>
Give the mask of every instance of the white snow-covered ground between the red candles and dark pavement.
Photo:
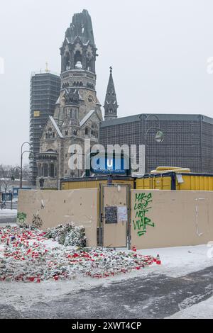
<svg viewBox="0 0 213 333">
<path fill-rule="evenodd" d="M 48 247 L 56 246 L 57 242 L 48 240 Z M 2 247 L 1 247 L 2 250 Z M 167 276 L 185 276 L 193 271 L 213 266 L 213 258 L 208 256 L 209 247 L 199 245 L 195 247 L 172 247 L 161 249 L 143 249 L 139 252 L 156 256 L 160 254 L 162 264 L 148 266 L 140 271 L 116 275 L 109 278 L 94 279 L 89 277 L 77 277 L 71 281 L 43 281 L 41 283 L 0 282 L 0 304 L 13 305 L 17 310 L 26 308 L 26 304 L 33 305 L 36 302 L 58 300 L 68 293 L 74 293 L 80 289 L 93 288 L 94 286 L 109 286 L 111 282 L 122 281 L 126 278 L 137 276 L 147 277 L 149 274 L 165 274 Z M 193 305 L 178 312 L 173 317 L 193 317 L 212 315 L 213 298 Z M 210 313 L 211 312 L 211 313 Z M 208 315 L 207 315 L 208 313 Z M 209 314 L 210 313 L 210 314 Z"/>
</svg>

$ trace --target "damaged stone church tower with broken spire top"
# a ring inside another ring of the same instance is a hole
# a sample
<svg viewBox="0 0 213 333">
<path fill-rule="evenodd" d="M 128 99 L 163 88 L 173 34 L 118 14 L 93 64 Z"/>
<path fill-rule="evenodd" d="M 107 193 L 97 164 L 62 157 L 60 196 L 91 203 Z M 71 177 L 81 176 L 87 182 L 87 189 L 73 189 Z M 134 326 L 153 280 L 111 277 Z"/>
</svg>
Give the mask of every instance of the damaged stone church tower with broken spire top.
<svg viewBox="0 0 213 333">
<path fill-rule="evenodd" d="M 44 188 L 58 188 L 59 179 L 84 175 L 84 156 L 82 169 L 70 169 L 70 145 L 80 145 L 84 153 L 84 139 L 98 143 L 102 111 L 96 93 L 97 47 L 88 11 L 72 17 L 60 55 L 60 96 L 43 131 L 37 162 L 37 185 L 44 179 Z"/>
</svg>

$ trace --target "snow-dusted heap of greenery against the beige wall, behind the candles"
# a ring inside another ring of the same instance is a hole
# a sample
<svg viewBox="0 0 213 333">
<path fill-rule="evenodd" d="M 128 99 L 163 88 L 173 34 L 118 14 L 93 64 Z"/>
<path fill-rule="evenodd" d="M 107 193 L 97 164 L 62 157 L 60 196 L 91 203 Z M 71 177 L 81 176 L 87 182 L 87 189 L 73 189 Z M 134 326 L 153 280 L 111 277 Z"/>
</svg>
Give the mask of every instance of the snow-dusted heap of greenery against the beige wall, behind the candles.
<svg viewBox="0 0 213 333">
<path fill-rule="evenodd" d="M 59 244 L 65 245 L 65 247 L 85 247 L 87 241 L 84 227 L 75 227 L 73 222 L 49 228 L 45 237 L 53 238 L 59 242 Z"/>
</svg>

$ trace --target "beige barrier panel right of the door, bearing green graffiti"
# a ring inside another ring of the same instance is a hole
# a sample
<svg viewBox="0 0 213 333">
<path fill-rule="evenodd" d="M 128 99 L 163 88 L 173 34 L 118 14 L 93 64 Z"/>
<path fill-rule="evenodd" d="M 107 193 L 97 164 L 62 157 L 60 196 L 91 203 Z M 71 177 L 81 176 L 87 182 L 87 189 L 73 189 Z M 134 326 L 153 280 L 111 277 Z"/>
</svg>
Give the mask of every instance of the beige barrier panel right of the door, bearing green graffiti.
<svg viewBox="0 0 213 333">
<path fill-rule="evenodd" d="M 131 191 L 131 246 L 138 249 L 213 241 L 212 191 Z"/>
</svg>

